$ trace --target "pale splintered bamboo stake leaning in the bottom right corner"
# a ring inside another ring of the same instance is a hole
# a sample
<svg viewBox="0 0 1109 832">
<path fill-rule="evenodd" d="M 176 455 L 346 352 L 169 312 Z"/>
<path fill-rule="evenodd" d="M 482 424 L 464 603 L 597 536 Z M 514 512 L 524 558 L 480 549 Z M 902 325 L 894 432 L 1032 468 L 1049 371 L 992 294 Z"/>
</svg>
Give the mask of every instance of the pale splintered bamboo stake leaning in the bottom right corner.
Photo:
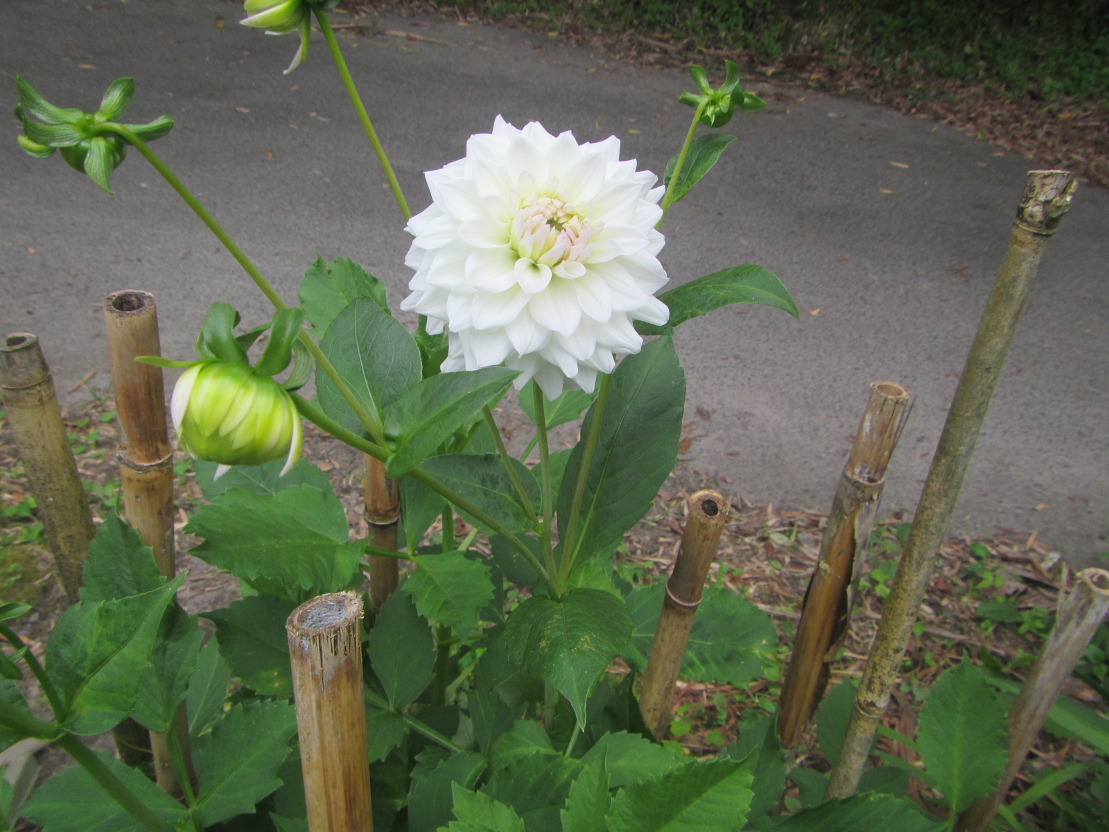
<svg viewBox="0 0 1109 832">
<path fill-rule="evenodd" d="M 1059 610 L 1051 635 L 1040 647 L 1039 656 L 1009 709 L 1009 760 L 1005 773 L 993 794 L 959 815 L 955 824 L 957 832 L 985 832 L 989 829 L 1059 691 L 1109 613 L 1109 571 L 1083 569 L 1077 579 L 1077 585 Z"/>
</svg>

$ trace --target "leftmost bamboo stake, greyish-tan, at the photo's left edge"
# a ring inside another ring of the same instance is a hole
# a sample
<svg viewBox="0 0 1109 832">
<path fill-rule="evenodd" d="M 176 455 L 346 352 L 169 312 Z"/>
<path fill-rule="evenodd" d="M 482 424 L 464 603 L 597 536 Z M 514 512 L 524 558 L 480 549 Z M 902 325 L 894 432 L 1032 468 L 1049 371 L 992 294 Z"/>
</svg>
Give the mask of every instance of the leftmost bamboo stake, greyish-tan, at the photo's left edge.
<svg viewBox="0 0 1109 832">
<path fill-rule="evenodd" d="M 0 346 L 0 394 L 54 555 L 58 579 L 75 603 L 94 529 L 50 367 L 31 333 L 13 333 Z"/>
</svg>

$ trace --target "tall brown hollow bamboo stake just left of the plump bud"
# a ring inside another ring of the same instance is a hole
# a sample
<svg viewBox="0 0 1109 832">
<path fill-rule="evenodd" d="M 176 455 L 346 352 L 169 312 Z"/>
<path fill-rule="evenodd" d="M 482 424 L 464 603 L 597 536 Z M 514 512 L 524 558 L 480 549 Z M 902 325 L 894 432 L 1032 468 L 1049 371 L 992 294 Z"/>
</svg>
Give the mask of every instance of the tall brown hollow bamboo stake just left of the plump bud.
<svg viewBox="0 0 1109 832">
<path fill-rule="evenodd" d="M 135 361 L 161 355 L 157 310 L 149 292 L 128 290 L 104 298 L 104 331 L 112 367 L 115 415 L 120 428 L 120 481 L 123 516 L 154 551 L 157 570 L 175 572 L 173 547 L 173 450 L 165 419 L 165 387 L 161 367 Z M 175 720 L 177 743 L 193 782 L 189 718 L 182 704 Z M 157 784 L 175 798 L 182 795 L 164 733 L 150 732 Z"/>
</svg>

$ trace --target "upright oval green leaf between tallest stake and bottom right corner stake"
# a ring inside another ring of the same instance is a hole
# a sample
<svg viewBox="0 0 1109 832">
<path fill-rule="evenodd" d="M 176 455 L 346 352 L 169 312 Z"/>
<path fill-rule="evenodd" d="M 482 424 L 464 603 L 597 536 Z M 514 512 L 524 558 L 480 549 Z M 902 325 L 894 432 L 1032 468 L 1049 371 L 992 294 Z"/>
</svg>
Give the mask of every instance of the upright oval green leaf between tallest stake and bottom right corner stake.
<svg viewBox="0 0 1109 832">
<path fill-rule="evenodd" d="M 997 787 L 1007 759 L 1005 712 L 969 659 L 936 680 L 920 711 L 916 744 L 953 811 L 962 812 Z"/>
</svg>

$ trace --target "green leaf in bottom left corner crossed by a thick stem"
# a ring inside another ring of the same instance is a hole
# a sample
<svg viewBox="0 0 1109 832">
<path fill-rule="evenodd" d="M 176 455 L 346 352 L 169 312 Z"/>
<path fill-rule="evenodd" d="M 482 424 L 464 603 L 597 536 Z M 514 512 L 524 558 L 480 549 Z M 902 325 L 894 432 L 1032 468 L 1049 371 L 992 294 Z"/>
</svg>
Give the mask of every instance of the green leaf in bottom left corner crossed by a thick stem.
<svg viewBox="0 0 1109 832">
<path fill-rule="evenodd" d="M 103 751 L 93 753 L 159 820 L 170 824 L 187 821 L 187 810 L 159 789 L 142 771 L 124 765 L 113 754 Z M 58 772 L 35 789 L 20 809 L 20 815 L 41 824 L 50 832 L 146 830 L 80 765 Z"/>
</svg>

